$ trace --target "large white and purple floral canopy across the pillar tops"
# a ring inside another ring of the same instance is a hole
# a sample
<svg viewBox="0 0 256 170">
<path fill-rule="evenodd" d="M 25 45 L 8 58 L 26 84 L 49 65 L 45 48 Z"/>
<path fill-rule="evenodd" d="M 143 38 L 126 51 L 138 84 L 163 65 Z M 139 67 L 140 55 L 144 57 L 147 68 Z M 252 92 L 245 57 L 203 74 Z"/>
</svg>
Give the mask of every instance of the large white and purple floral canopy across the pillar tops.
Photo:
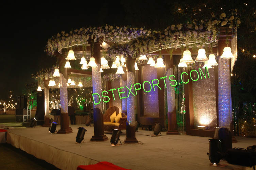
<svg viewBox="0 0 256 170">
<path fill-rule="evenodd" d="M 61 32 L 52 36 L 46 46 L 46 52 L 54 55 L 63 48 L 73 46 L 89 45 L 89 40 L 97 42 L 102 39 L 106 42 L 113 42 L 107 49 L 107 60 L 114 60 L 116 55 L 123 54 L 124 57 L 131 55 L 138 58 L 141 54 L 152 53 L 161 49 L 180 47 L 199 47 L 212 44 L 216 40 L 221 27 L 229 27 L 233 35 L 240 24 L 236 17 L 236 10 L 229 14 L 211 14 L 211 18 L 204 20 L 193 20 L 185 24 L 171 25 L 164 30 L 145 30 L 143 28 L 132 28 L 129 26 L 101 26 L 98 28 L 80 28 L 69 33 Z M 215 43 L 215 44 L 214 44 Z"/>
</svg>

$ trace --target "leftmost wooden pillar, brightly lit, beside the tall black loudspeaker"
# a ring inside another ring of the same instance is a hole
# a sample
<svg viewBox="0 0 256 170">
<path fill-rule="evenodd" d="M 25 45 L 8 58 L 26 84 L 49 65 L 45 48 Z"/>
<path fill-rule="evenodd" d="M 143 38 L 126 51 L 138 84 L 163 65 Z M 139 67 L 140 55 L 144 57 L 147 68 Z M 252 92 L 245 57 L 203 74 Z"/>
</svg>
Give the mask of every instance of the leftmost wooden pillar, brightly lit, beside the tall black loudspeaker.
<svg viewBox="0 0 256 170">
<path fill-rule="evenodd" d="M 44 80 L 44 96 L 45 96 L 45 122 L 43 124 L 44 127 L 50 126 L 50 117 L 49 117 L 49 80 Z"/>
</svg>

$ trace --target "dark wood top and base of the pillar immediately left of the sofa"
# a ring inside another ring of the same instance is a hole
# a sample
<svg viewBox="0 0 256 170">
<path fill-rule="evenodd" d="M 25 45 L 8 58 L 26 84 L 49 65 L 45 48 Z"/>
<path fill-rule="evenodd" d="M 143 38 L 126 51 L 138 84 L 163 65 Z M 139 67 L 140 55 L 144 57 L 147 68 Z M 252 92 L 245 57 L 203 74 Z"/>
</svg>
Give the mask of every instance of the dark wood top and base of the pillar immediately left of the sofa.
<svg viewBox="0 0 256 170">
<path fill-rule="evenodd" d="M 93 50 L 93 57 L 95 58 L 95 63 L 100 65 L 100 43 L 94 43 L 93 48 L 91 44 L 91 49 Z M 92 71 L 92 77 L 95 76 L 94 71 Z M 101 80 L 100 80 L 101 82 Z M 93 88 L 96 84 L 93 81 Z M 100 91 L 101 92 L 101 91 Z M 98 92 L 99 93 L 99 92 Z M 101 101 L 102 102 L 102 101 Z M 97 105 L 96 105 L 97 106 Z M 104 135 L 104 124 L 103 124 L 103 114 L 102 108 L 95 107 L 93 109 L 93 122 L 94 122 L 94 136 L 92 136 L 90 141 L 105 141 L 108 137 Z"/>
</svg>

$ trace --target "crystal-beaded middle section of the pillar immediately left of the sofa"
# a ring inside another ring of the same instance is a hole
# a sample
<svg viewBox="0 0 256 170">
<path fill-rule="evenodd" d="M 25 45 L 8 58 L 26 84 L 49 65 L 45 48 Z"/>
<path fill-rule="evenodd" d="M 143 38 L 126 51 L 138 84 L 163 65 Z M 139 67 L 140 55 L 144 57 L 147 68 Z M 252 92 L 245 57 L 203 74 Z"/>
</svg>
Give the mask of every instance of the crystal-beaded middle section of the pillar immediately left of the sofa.
<svg viewBox="0 0 256 170">
<path fill-rule="evenodd" d="M 99 95 L 101 95 L 102 82 L 100 77 L 100 64 L 97 64 L 96 67 L 92 67 L 92 82 L 93 82 L 93 93 L 98 93 Z M 95 96 L 94 100 L 95 100 L 95 103 L 98 103 L 100 99 Z M 93 105 L 93 108 L 98 107 L 100 111 L 103 112 L 102 103 L 103 101 L 101 100 L 99 104 Z"/>
</svg>

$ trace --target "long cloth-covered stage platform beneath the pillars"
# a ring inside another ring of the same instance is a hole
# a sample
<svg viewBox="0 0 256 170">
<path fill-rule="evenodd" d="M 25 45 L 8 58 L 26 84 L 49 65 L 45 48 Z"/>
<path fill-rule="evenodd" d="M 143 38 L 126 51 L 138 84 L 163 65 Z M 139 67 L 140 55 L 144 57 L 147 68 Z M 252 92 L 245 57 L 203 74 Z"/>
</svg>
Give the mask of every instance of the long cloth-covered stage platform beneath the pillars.
<svg viewBox="0 0 256 170">
<path fill-rule="evenodd" d="M 107 161 L 117 166 L 132 170 L 179 170 L 179 169 L 252 169 L 237 165 L 230 165 L 226 161 L 226 167 L 210 166 L 208 159 L 208 137 L 189 135 L 166 135 L 152 137 L 153 131 L 139 129 L 136 133 L 139 144 L 124 144 L 125 131 L 120 136 L 123 145 L 112 147 L 110 145 L 111 134 L 104 142 L 91 142 L 93 127 L 83 126 L 85 133 L 84 143 L 76 143 L 75 137 L 78 127 L 70 125 L 71 134 L 50 134 L 48 128 L 37 126 L 36 128 L 9 129 L 7 143 L 34 155 L 39 159 L 63 170 L 76 170 L 78 165 L 96 164 Z M 57 130 L 60 126 L 57 126 Z M 246 148 L 256 144 L 256 138 L 236 137 L 237 143 L 233 147 Z"/>
</svg>

